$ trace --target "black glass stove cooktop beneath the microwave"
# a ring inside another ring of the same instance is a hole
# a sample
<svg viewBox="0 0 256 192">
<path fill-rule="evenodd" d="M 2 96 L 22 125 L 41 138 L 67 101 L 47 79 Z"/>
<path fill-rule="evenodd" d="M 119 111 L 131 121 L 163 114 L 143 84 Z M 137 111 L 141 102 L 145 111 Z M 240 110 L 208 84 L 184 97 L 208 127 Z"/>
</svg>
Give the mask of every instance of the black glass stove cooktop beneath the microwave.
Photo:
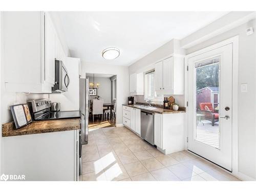
<svg viewBox="0 0 256 192">
<path fill-rule="evenodd" d="M 80 111 L 51 111 L 45 115 L 35 117 L 34 120 L 70 119 L 80 118 Z"/>
</svg>

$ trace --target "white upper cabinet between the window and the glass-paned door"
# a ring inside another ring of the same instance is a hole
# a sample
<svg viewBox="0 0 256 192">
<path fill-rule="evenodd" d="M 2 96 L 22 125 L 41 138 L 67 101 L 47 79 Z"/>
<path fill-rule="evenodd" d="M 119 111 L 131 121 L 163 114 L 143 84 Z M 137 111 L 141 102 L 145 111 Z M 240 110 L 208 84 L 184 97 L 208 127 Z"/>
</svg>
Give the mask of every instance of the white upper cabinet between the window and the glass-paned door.
<svg viewBox="0 0 256 192">
<path fill-rule="evenodd" d="M 155 90 L 159 95 L 184 94 L 182 57 L 169 57 L 155 64 Z"/>
</svg>

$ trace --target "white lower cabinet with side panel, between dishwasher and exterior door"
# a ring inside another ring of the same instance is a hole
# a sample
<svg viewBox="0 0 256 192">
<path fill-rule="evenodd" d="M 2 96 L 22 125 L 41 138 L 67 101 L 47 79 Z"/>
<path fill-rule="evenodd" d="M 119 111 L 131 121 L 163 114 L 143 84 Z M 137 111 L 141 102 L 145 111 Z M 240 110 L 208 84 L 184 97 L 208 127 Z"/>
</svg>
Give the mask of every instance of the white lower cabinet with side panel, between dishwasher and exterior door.
<svg viewBox="0 0 256 192">
<path fill-rule="evenodd" d="M 154 142 L 164 154 L 185 150 L 185 113 L 155 113 Z"/>
</svg>

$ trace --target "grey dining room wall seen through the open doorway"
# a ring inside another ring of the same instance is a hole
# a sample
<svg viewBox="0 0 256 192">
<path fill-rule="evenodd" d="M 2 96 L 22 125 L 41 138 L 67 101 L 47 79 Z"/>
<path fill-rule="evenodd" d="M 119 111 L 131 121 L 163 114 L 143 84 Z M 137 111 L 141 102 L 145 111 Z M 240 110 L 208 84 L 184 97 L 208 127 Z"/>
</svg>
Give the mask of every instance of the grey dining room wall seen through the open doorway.
<svg viewBox="0 0 256 192">
<path fill-rule="evenodd" d="M 108 77 L 94 77 L 95 83 L 99 83 L 98 96 L 100 96 L 104 103 L 111 103 L 111 80 Z M 93 77 L 89 77 L 89 82 L 93 82 Z"/>
</svg>

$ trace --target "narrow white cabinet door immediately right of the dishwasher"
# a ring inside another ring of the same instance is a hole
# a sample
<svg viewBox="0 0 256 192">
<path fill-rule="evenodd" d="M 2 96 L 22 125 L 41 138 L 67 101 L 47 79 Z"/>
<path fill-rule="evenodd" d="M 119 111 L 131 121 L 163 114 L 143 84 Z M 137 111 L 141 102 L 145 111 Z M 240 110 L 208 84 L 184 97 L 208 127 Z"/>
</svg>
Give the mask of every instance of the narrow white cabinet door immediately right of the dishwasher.
<svg viewBox="0 0 256 192">
<path fill-rule="evenodd" d="M 155 145 L 162 148 L 163 142 L 162 142 L 162 115 L 161 114 L 155 114 L 154 116 L 154 142 Z"/>
</svg>

